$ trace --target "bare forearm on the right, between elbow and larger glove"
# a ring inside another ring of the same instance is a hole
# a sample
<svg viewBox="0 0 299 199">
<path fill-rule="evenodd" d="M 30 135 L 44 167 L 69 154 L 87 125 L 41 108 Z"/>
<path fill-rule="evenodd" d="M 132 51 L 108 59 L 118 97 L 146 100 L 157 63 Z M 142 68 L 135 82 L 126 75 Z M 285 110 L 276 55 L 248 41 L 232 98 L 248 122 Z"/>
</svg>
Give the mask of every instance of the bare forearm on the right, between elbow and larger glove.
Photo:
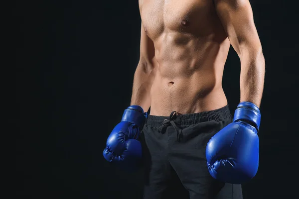
<svg viewBox="0 0 299 199">
<path fill-rule="evenodd" d="M 260 107 L 265 79 L 265 59 L 262 50 L 242 52 L 240 60 L 240 101 L 249 101 Z"/>
</svg>

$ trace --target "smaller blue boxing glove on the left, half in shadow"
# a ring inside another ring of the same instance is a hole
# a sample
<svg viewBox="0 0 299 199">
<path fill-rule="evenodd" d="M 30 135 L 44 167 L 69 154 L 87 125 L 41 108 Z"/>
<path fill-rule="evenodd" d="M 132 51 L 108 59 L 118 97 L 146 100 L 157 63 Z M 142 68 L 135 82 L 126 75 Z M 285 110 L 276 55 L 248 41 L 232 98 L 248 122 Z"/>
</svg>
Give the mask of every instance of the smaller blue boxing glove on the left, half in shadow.
<svg viewBox="0 0 299 199">
<path fill-rule="evenodd" d="M 138 105 L 125 109 L 123 118 L 109 135 L 104 158 L 121 168 L 137 170 L 142 158 L 141 143 L 138 141 L 141 129 L 147 118 L 147 113 Z"/>
</svg>

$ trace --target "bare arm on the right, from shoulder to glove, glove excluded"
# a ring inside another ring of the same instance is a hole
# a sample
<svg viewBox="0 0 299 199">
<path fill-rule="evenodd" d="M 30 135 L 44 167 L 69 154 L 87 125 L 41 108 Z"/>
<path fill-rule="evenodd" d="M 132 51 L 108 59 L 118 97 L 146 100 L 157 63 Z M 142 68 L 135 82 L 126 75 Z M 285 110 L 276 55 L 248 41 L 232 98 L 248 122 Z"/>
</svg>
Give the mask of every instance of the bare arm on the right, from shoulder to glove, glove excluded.
<svg viewBox="0 0 299 199">
<path fill-rule="evenodd" d="M 241 62 L 240 102 L 261 104 L 265 59 L 249 0 L 214 0 L 216 12 Z"/>
</svg>

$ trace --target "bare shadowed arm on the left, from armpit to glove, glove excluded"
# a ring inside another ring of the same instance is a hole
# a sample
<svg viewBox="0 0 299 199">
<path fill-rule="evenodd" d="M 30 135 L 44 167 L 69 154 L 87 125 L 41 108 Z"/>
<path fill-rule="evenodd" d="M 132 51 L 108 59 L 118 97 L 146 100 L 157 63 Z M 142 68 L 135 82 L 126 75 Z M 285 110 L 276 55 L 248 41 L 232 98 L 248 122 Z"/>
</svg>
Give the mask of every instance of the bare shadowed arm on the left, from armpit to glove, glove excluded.
<svg viewBox="0 0 299 199">
<path fill-rule="evenodd" d="M 131 105 L 140 105 L 145 112 L 150 106 L 150 88 L 155 77 L 154 45 L 141 24 L 140 60 L 135 71 Z"/>
</svg>

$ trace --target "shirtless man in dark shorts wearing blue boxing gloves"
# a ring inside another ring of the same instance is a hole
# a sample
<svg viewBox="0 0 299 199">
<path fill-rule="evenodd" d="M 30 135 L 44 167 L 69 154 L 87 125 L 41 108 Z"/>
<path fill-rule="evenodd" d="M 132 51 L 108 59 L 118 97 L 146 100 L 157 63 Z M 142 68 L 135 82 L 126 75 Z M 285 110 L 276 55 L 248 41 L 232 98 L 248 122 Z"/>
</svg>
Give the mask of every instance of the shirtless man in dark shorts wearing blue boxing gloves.
<svg viewBox="0 0 299 199">
<path fill-rule="evenodd" d="M 240 184 L 258 170 L 265 75 L 249 0 L 139 0 L 139 7 L 132 101 L 105 159 L 130 170 L 142 159 L 145 199 L 164 198 L 172 175 L 190 199 L 241 199 Z M 234 117 L 222 89 L 230 45 L 241 61 Z"/>
</svg>

